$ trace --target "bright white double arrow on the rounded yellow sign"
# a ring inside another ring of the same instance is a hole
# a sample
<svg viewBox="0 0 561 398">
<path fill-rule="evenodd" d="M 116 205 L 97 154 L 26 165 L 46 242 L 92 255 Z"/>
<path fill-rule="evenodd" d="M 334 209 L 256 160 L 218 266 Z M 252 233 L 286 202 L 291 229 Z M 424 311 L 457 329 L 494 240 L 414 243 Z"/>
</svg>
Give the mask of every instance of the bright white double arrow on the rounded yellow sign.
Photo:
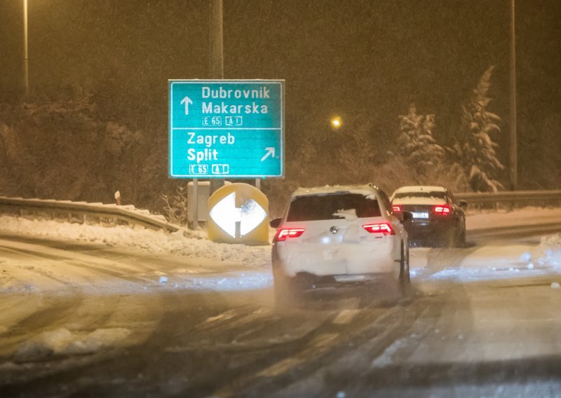
<svg viewBox="0 0 561 398">
<path fill-rule="evenodd" d="M 210 210 L 210 217 L 232 238 L 236 238 L 236 223 L 240 223 L 240 235 L 247 235 L 263 222 L 267 216 L 263 207 L 250 199 L 236 207 L 236 193 L 230 193 Z"/>
</svg>

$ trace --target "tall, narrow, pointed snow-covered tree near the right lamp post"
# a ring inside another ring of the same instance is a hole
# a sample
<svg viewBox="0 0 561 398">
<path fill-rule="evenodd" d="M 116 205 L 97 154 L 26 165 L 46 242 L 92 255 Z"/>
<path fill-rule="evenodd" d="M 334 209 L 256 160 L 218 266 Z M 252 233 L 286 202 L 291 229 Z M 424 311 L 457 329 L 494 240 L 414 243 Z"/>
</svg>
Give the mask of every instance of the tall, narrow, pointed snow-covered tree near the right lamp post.
<svg viewBox="0 0 561 398">
<path fill-rule="evenodd" d="M 498 144 L 492 139 L 493 135 L 501 132 L 501 118 L 487 110 L 491 102 L 487 93 L 493 69 L 489 67 L 485 71 L 468 104 L 462 107 L 460 137 L 454 144 L 454 152 L 466 172 L 469 186 L 473 191 L 480 192 L 496 192 L 502 188 L 497 179 L 504 170 L 496 157 Z"/>
</svg>

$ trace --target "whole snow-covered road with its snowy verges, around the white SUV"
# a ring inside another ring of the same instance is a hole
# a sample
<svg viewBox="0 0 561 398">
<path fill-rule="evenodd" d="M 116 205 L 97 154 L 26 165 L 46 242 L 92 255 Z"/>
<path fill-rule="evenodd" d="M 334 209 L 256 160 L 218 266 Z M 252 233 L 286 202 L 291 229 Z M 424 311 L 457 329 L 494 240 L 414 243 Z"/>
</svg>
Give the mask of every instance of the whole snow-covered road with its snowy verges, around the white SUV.
<svg viewBox="0 0 561 398">
<path fill-rule="evenodd" d="M 555 396 L 561 235 L 517 226 L 561 210 L 467 224 L 468 247 L 412 249 L 410 302 L 279 311 L 269 247 L 0 217 L 1 396 Z"/>
</svg>

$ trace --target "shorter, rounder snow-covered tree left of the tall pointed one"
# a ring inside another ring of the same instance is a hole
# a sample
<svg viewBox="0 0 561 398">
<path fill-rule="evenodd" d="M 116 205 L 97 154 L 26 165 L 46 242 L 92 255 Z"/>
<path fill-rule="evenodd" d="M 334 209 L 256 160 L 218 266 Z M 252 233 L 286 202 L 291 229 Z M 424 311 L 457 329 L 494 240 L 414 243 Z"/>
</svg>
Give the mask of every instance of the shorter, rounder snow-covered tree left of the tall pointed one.
<svg viewBox="0 0 561 398">
<path fill-rule="evenodd" d="M 442 163 L 444 149 L 433 137 L 434 115 L 418 115 L 415 104 L 411 104 L 407 115 L 398 116 L 400 133 L 398 146 L 407 165 L 425 174 Z"/>
</svg>

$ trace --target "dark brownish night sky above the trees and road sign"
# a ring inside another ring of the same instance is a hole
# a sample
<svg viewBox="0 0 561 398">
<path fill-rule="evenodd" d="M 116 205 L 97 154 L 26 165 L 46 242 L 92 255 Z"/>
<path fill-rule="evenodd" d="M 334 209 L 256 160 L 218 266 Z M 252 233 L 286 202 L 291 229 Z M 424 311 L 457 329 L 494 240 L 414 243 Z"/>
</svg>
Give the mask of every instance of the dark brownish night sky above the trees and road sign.
<svg viewBox="0 0 561 398">
<path fill-rule="evenodd" d="M 538 117 L 561 107 L 561 2 L 516 4 L 519 111 Z M 4 98 L 22 85 L 21 8 L 0 0 Z M 446 139 L 494 64 L 491 109 L 506 133 L 508 20 L 508 0 L 224 0 L 224 73 L 287 81 L 292 143 L 335 113 L 388 138 L 410 102 Z M 29 0 L 29 50 L 34 95 L 107 85 L 123 109 L 165 125 L 167 79 L 208 77 L 208 1 Z"/>
</svg>

